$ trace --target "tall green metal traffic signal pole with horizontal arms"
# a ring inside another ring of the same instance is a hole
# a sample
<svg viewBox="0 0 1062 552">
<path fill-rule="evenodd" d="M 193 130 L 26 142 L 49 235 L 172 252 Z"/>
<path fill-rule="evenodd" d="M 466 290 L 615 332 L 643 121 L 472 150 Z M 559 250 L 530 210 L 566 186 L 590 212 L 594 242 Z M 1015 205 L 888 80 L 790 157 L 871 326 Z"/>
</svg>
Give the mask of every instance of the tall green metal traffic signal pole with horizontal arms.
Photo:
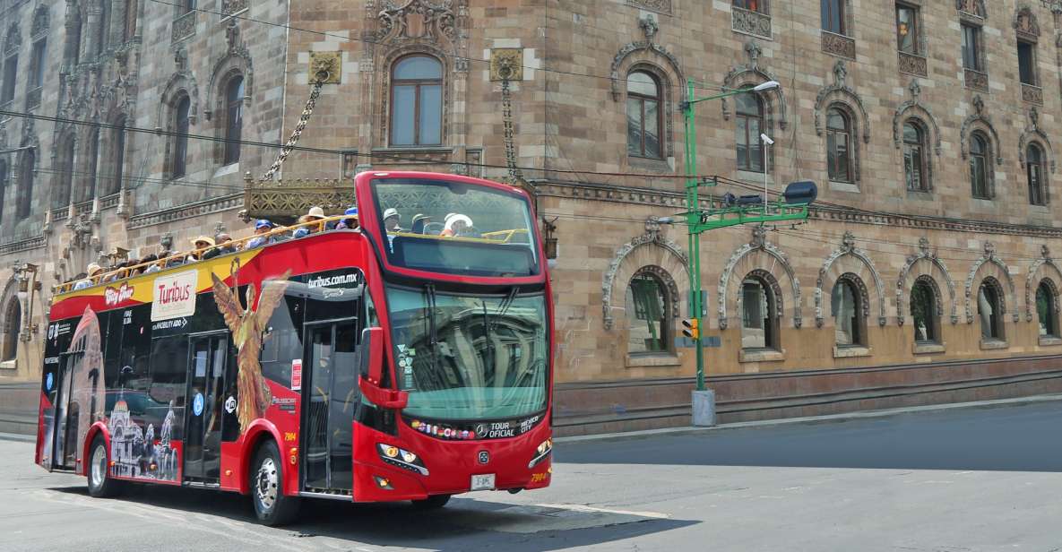
<svg viewBox="0 0 1062 552">
<path fill-rule="evenodd" d="M 773 209 L 767 203 L 760 203 L 754 206 L 727 206 L 718 209 L 714 208 L 715 206 L 713 205 L 713 208 L 709 208 L 707 211 L 702 210 L 698 193 L 698 188 L 701 184 L 697 179 L 697 125 L 693 119 L 693 105 L 730 96 L 773 90 L 777 87 L 778 83 L 771 81 L 754 88 L 729 90 L 707 98 L 695 98 L 693 80 L 689 79 L 686 81 L 686 101 L 682 103 L 686 131 L 685 222 L 689 229 L 689 311 L 690 317 L 697 321 L 698 328 L 697 338 L 693 340 L 693 346 L 697 349 L 697 391 L 705 390 L 704 347 L 701 338 L 701 332 L 704 328 L 701 324 L 701 312 L 703 309 L 703 305 L 701 304 L 701 232 L 739 224 L 806 220 L 807 205 L 788 205 L 780 200 L 773 205 Z M 764 167 L 764 170 L 766 171 L 767 167 Z"/>
</svg>

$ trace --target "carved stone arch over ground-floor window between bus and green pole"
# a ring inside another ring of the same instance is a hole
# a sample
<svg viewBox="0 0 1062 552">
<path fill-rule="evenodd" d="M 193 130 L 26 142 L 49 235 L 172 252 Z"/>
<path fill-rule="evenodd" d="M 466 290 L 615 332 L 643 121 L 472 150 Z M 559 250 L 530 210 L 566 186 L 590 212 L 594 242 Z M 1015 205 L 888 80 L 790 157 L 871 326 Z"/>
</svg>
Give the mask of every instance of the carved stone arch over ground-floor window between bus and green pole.
<svg viewBox="0 0 1062 552">
<path fill-rule="evenodd" d="M 668 239 L 658 228 L 653 228 L 653 226 L 647 224 L 645 234 L 616 249 L 616 256 L 602 275 L 601 309 L 602 322 L 606 330 L 612 330 L 615 326 L 613 311 L 619 308 L 614 306 L 614 297 L 623 297 L 631 278 L 646 266 L 655 266 L 658 269 L 658 274 L 667 275 L 667 278 L 662 278 L 662 280 L 671 292 L 669 297 L 671 301 L 670 312 L 675 313 L 675 315 L 681 312 L 682 288 L 680 284 L 686 291 L 689 290 L 689 277 L 687 276 L 689 259 L 678 243 Z M 668 281 L 671 283 L 668 284 Z M 617 286 L 619 286 L 618 289 Z"/>
</svg>

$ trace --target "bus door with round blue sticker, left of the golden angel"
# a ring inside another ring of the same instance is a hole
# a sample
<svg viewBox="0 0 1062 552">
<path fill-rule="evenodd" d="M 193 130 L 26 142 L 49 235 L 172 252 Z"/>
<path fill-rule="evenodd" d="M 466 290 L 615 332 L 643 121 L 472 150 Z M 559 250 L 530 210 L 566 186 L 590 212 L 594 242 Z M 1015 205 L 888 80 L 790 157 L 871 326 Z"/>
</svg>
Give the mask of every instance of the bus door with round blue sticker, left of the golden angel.
<svg viewBox="0 0 1062 552">
<path fill-rule="evenodd" d="M 221 437 L 225 421 L 228 333 L 225 331 L 189 337 L 191 374 L 185 410 L 185 479 L 202 483 L 221 480 Z M 229 421 L 230 422 L 230 421 Z"/>
</svg>

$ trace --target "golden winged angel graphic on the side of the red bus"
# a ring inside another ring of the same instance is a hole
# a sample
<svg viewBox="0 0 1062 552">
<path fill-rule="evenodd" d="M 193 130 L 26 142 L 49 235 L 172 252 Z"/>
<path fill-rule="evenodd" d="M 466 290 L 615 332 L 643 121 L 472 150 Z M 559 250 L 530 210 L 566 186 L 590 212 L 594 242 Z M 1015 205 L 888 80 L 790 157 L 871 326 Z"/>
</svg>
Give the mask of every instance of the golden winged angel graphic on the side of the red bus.
<svg viewBox="0 0 1062 552">
<path fill-rule="evenodd" d="M 218 304 L 218 310 L 225 317 L 225 325 L 233 332 L 233 343 L 236 344 L 236 364 L 240 370 L 236 380 L 236 391 L 239 395 L 237 401 L 236 415 L 240 420 L 240 433 L 242 434 L 247 426 L 256 418 L 266 414 L 273 400 L 273 394 L 269 391 L 262 378 L 261 364 L 258 362 L 262 348 L 262 333 L 266 325 L 277 305 L 284 299 L 284 293 L 288 288 L 288 277 L 291 271 L 285 272 L 279 278 L 262 280 L 261 296 L 258 297 L 258 309 L 253 310 L 255 300 L 255 284 L 247 286 L 246 304 L 243 308 L 240 304 L 240 296 L 237 292 L 236 275 L 239 272 L 239 261 L 233 263 L 233 283 L 237 287 L 229 288 L 217 274 L 210 274 L 213 279 L 213 300 Z"/>
</svg>

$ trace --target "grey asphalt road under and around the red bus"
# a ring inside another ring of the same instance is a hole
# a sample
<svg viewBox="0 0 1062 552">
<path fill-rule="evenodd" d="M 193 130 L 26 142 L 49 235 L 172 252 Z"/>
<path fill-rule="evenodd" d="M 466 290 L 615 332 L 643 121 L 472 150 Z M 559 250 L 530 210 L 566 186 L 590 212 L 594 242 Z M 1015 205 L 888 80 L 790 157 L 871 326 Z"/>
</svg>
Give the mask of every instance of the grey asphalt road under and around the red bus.
<svg viewBox="0 0 1062 552">
<path fill-rule="evenodd" d="M 556 462 L 545 490 L 310 502 L 269 529 L 227 494 L 95 500 L 0 441 L 0 550 L 1062 550 L 1062 401 L 558 443 Z"/>
</svg>

